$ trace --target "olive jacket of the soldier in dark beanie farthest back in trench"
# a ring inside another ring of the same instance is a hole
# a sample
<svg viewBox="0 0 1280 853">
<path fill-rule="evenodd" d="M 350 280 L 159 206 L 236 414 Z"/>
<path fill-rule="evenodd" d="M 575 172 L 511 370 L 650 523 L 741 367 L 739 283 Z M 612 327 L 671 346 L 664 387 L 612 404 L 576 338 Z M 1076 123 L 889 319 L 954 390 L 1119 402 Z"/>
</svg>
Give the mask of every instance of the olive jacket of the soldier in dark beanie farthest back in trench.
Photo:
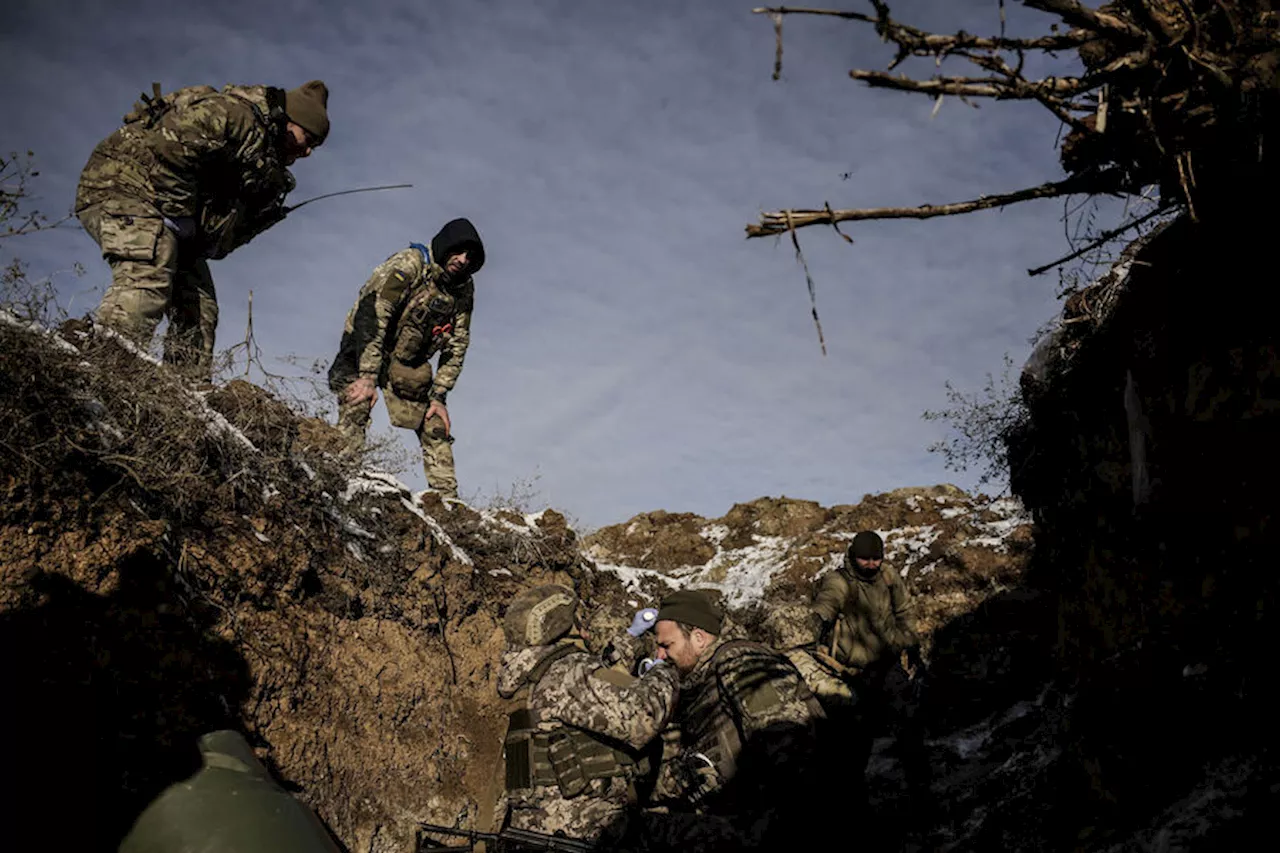
<svg viewBox="0 0 1280 853">
<path fill-rule="evenodd" d="M 902 649 L 919 643 L 911 625 L 911 597 L 888 564 L 873 580 L 864 580 L 846 558 L 822 579 L 813 611 L 823 622 L 835 622 L 833 657 L 845 666 L 890 666 Z"/>
</svg>

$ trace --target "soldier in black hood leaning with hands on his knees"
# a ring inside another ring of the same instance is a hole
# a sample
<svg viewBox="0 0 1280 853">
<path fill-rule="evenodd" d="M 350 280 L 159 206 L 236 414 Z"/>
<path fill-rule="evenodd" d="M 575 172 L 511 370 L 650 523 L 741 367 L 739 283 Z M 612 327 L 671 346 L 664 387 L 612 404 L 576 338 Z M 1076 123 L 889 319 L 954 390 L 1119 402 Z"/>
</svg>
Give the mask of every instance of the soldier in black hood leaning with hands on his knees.
<svg viewBox="0 0 1280 853">
<path fill-rule="evenodd" d="M 329 369 L 344 452 L 364 447 L 383 388 L 392 425 L 417 433 L 428 484 L 454 500 L 458 478 L 445 398 L 471 343 L 471 277 L 484 257 L 480 234 L 466 219 L 447 223 L 430 247 L 411 243 L 388 257 L 360 288 Z M 440 360 L 433 374 L 435 353 Z"/>
</svg>

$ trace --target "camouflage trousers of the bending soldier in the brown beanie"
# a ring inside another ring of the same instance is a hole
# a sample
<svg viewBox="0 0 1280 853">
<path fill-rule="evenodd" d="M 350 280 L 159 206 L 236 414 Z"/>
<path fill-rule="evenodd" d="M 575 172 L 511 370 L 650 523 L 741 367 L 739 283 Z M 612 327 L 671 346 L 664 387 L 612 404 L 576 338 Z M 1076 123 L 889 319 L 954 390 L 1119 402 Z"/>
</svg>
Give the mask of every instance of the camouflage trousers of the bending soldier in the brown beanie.
<svg viewBox="0 0 1280 853">
<path fill-rule="evenodd" d="M 159 214 L 120 214 L 99 204 L 77 216 L 111 268 L 97 321 L 146 350 L 168 316 L 164 360 L 209 379 L 218 328 L 218 295 L 209 263 L 182 250 Z"/>
</svg>

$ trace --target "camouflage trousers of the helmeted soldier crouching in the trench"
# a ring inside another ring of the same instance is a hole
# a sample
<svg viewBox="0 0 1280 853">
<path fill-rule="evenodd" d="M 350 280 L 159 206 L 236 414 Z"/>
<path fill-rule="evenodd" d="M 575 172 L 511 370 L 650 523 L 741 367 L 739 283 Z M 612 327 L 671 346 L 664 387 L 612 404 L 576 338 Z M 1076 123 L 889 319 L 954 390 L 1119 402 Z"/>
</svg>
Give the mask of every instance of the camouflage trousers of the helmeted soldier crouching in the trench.
<svg viewBox="0 0 1280 853">
<path fill-rule="evenodd" d="M 626 833 L 628 789 L 620 776 L 593 780 L 586 792 L 568 799 L 556 785 L 511 793 L 507 824 L 544 835 L 561 833 L 584 841 L 613 843 Z"/>
</svg>

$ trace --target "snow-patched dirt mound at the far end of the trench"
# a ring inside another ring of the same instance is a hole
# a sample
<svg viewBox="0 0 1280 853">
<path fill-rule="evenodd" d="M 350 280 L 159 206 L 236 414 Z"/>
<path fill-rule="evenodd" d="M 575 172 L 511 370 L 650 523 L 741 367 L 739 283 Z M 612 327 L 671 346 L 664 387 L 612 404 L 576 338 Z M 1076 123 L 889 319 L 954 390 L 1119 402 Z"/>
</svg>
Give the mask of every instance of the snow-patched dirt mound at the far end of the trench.
<svg viewBox="0 0 1280 853">
<path fill-rule="evenodd" d="M 723 517 L 646 512 L 585 537 L 591 584 L 613 610 L 659 601 L 678 587 L 710 592 L 749 635 L 782 643 L 771 612 L 803 610 L 859 530 L 884 538 L 886 558 L 914 596 L 934 666 L 934 722 L 968 725 L 1027 698 L 1047 678 L 1046 599 L 1027 589 L 1032 523 L 1016 501 L 954 485 L 901 488 L 859 503 L 763 497 Z M 655 543 L 682 543 L 654 566 Z M 686 555 L 672 565 L 676 555 Z M 783 631 L 786 633 L 786 631 Z"/>
</svg>

